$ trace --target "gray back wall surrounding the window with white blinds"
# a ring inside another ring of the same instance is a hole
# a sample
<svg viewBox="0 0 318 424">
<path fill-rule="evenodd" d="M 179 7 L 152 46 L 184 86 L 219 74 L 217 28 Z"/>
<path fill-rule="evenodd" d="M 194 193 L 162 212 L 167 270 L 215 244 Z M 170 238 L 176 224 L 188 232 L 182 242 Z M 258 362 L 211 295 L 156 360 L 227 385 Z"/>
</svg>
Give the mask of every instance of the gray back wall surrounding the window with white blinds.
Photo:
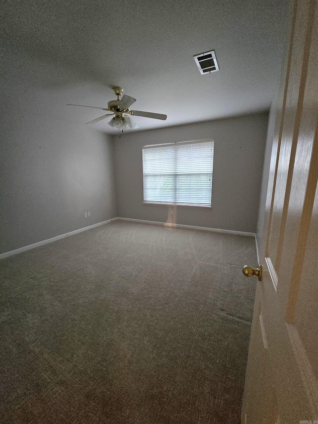
<svg viewBox="0 0 318 424">
<path fill-rule="evenodd" d="M 214 138 L 212 208 L 178 206 L 173 222 L 255 232 L 268 113 L 113 136 L 118 216 L 166 222 L 170 208 L 143 204 L 142 147 Z"/>
</svg>

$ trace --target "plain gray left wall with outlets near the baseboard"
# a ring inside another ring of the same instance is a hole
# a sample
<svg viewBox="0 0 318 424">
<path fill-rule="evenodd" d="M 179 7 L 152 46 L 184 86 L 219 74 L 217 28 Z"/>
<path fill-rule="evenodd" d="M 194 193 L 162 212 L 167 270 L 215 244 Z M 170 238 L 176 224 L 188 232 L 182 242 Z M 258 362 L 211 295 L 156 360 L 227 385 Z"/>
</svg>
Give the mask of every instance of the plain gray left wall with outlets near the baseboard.
<svg viewBox="0 0 318 424">
<path fill-rule="evenodd" d="M 52 66 L 1 53 L 4 253 L 113 218 L 117 210 L 111 137 L 70 120 L 67 87 L 39 86 L 45 72 L 50 81 Z"/>
</svg>

